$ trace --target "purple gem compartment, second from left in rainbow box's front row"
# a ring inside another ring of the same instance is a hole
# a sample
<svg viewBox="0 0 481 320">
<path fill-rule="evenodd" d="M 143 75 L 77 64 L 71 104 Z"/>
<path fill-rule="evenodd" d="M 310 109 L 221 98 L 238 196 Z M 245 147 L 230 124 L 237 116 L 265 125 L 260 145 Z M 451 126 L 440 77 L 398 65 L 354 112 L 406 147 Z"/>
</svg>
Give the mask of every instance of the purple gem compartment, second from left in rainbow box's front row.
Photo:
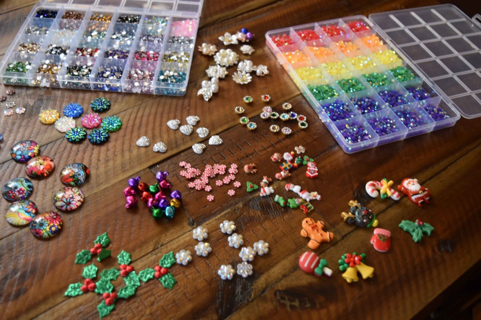
<svg viewBox="0 0 481 320">
<path fill-rule="evenodd" d="M 390 109 L 369 113 L 364 119 L 379 136 L 378 145 L 404 139 L 407 134 L 405 125 Z"/>
</svg>

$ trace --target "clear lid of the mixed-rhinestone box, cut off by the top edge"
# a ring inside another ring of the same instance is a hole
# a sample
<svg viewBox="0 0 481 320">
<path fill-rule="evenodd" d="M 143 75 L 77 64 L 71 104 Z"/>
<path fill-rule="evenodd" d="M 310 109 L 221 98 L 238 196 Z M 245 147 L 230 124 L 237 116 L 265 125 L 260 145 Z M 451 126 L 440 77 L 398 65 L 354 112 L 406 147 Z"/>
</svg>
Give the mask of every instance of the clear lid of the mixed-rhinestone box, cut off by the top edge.
<svg viewBox="0 0 481 320">
<path fill-rule="evenodd" d="M 40 0 L 40 3 L 73 5 L 77 8 L 123 8 L 135 12 L 198 18 L 201 16 L 204 0 Z"/>
</svg>

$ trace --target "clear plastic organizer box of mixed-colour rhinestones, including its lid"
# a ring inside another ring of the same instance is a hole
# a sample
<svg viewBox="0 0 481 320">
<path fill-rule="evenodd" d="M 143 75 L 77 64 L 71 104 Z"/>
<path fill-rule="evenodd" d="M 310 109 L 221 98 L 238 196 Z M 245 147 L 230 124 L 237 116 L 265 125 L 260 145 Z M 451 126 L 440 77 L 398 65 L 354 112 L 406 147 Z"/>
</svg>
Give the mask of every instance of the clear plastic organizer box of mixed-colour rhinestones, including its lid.
<svg viewBox="0 0 481 320">
<path fill-rule="evenodd" d="M 203 0 L 40 1 L 6 51 L 0 79 L 185 95 L 202 5 Z M 38 46 L 25 50 L 33 43 Z"/>
</svg>

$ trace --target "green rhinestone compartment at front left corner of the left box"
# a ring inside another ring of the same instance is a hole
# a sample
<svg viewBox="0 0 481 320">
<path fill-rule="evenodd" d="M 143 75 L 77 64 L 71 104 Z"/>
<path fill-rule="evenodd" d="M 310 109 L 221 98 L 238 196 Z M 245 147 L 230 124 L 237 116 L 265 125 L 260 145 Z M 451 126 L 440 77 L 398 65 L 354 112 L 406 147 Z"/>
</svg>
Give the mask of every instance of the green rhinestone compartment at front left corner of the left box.
<svg viewBox="0 0 481 320">
<path fill-rule="evenodd" d="M 27 72 L 32 68 L 34 58 L 33 54 L 11 53 L 0 71 L 3 83 L 30 85 Z"/>
</svg>

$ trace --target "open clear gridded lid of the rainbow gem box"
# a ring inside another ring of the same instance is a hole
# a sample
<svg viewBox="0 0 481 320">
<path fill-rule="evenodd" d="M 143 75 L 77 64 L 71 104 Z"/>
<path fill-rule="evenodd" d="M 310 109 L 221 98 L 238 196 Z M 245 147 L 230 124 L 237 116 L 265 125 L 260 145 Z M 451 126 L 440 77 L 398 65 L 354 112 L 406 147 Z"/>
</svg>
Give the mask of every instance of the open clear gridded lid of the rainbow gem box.
<svg viewBox="0 0 481 320">
<path fill-rule="evenodd" d="M 481 116 L 481 23 L 452 4 L 369 15 L 464 118 Z"/>
</svg>

